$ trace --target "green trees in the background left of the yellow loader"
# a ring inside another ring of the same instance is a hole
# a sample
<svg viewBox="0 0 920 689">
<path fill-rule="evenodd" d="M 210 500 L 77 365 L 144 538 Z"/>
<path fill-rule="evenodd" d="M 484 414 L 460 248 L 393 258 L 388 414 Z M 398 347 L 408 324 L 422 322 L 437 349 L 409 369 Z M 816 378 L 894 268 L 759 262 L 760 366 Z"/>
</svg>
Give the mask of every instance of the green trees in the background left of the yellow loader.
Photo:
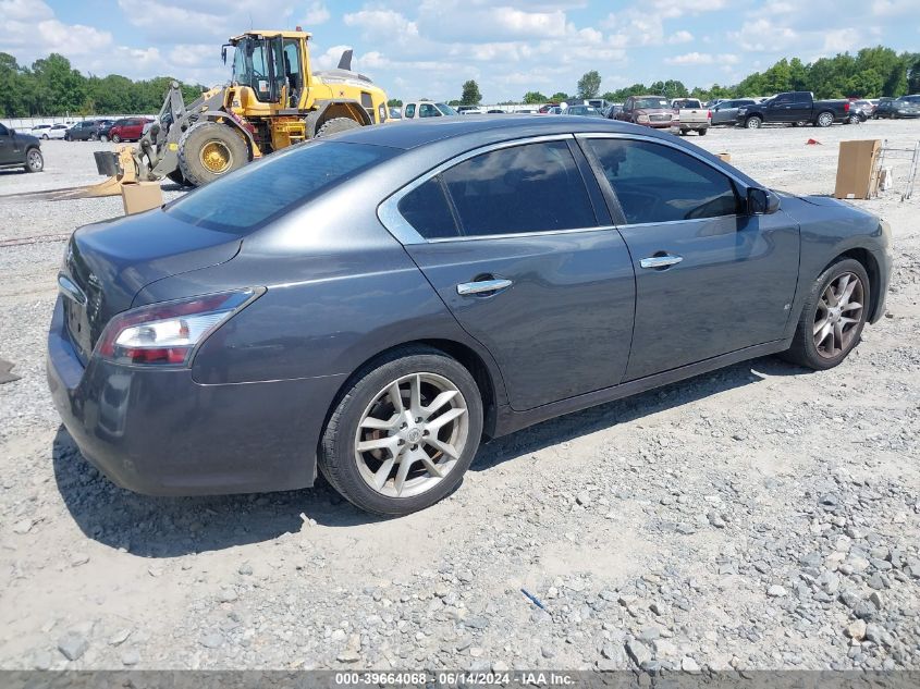
<svg viewBox="0 0 920 689">
<path fill-rule="evenodd" d="M 0 52 L 0 116 L 28 118 L 158 112 L 173 79 L 158 76 L 132 81 L 125 76 L 85 76 L 58 53 L 25 66 Z M 182 84 L 191 102 L 200 85 Z"/>
</svg>

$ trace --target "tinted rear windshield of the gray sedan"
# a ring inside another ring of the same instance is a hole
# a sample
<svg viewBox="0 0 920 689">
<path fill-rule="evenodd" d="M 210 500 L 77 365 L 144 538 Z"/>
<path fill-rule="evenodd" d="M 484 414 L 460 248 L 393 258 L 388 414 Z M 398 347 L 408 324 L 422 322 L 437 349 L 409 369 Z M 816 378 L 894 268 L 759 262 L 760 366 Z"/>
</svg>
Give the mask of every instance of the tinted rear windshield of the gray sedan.
<svg viewBox="0 0 920 689">
<path fill-rule="evenodd" d="M 165 212 L 242 236 L 395 152 L 381 146 L 310 142 L 200 187 L 167 206 Z"/>
</svg>

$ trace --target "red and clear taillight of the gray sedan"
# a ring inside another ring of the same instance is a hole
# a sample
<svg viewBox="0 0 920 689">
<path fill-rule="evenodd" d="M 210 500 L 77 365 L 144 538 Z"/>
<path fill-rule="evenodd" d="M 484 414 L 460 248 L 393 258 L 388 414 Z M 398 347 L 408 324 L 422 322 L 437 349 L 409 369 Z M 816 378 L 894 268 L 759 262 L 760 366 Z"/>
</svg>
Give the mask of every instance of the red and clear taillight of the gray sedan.
<svg viewBox="0 0 920 689">
<path fill-rule="evenodd" d="M 263 290 L 241 290 L 163 302 L 119 313 L 96 352 L 116 364 L 185 366 L 192 353 Z"/>
</svg>

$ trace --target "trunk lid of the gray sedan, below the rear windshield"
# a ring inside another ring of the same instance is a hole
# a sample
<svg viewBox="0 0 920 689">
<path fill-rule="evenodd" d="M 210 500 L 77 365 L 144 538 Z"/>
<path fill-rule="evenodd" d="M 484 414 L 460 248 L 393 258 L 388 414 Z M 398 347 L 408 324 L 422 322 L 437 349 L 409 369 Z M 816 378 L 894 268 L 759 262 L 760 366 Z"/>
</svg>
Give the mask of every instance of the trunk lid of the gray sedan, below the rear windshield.
<svg viewBox="0 0 920 689">
<path fill-rule="evenodd" d="M 88 360 L 112 316 L 128 309 L 145 286 L 226 262 L 241 244 L 236 234 L 191 225 L 159 209 L 78 229 L 61 272 L 85 297 L 63 299 L 79 358 Z"/>
</svg>

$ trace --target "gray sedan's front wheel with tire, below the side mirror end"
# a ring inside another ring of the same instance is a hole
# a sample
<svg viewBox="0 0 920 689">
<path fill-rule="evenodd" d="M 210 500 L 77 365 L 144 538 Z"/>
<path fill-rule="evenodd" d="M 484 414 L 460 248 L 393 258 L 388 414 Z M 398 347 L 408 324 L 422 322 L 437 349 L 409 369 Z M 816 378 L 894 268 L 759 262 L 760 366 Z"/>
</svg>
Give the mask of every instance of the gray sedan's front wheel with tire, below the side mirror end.
<svg viewBox="0 0 920 689">
<path fill-rule="evenodd" d="M 822 272 L 805 300 L 786 360 L 815 370 L 834 368 L 859 344 L 871 304 L 862 263 L 842 258 Z"/>
</svg>

